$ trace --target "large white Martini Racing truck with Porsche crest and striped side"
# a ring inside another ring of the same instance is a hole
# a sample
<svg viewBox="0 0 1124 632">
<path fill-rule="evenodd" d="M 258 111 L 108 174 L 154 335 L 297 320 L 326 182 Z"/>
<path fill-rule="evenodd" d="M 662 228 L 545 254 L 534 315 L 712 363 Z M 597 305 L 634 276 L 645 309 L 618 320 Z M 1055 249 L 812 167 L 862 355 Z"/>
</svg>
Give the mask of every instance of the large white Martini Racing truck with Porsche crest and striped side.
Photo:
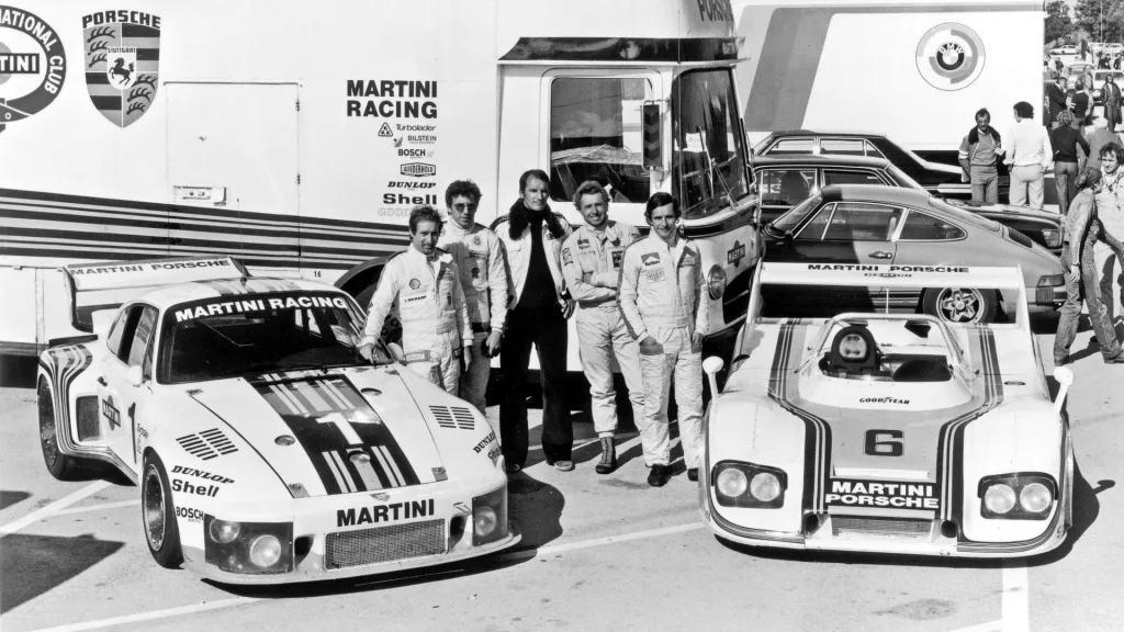
<svg viewBox="0 0 1124 632">
<path fill-rule="evenodd" d="M 0 351 L 76 335 L 57 268 L 230 255 L 373 286 L 415 205 L 528 169 L 644 226 L 680 198 L 710 331 L 760 254 L 727 0 L 80 0 L 0 6 Z M 577 362 L 571 344 L 571 367 Z"/>
</svg>

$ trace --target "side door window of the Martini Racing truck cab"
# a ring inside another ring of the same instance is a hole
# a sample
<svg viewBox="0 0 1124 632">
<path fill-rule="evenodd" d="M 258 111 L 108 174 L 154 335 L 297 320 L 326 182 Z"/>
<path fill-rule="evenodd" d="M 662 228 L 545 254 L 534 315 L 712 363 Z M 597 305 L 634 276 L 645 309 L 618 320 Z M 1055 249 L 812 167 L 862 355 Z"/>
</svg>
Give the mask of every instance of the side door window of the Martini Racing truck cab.
<svg viewBox="0 0 1124 632">
<path fill-rule="evenodd" d="M 640 78 L 559 78 L 551 82 L 551 199 L 570 201 L 596 180 L 611 201 L 643 202 L 641 108 L 652 87 Z"/>
</svg>

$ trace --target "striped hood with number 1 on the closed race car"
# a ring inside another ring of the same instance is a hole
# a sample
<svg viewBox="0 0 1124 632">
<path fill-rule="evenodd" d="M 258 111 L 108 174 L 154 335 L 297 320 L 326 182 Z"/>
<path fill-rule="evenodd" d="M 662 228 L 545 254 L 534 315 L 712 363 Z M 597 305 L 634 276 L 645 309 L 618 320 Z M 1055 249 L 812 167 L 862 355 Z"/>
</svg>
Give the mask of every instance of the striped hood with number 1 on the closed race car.
<svg viewBox="0 0 1124 632">
<path fill-rule="evenodd" d="M 434 482 L 429 426 L 395 369 L 269 373 L 185 390 L 248 442 L 294 496 Z"/>
</svg>

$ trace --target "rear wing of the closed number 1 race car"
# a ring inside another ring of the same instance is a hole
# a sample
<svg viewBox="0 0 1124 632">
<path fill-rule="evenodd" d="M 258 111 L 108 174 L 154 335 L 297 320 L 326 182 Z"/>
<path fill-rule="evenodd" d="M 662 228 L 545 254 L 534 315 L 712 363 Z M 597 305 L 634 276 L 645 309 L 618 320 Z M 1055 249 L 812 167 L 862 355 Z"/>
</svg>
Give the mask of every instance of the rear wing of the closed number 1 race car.
<svg viewBox="0 0 1124 632">
<path fill-rule="evenodd" d="M 250 276 L 242 262 L 232 256 L 75 263 L 62 271 L 71 295 L 71 324 L 81 332 L 93 332 L 96 312 L 117 309 L 151 289 Z"/>
</svg>

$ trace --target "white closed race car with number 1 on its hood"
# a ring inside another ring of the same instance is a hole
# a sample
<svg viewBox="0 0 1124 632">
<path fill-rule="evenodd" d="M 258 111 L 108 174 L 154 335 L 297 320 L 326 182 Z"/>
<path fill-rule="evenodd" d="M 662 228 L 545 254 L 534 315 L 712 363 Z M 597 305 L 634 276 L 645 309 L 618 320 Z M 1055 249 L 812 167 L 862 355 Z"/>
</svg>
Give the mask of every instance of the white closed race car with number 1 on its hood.
<svg viewBox="0 0 1124 632">
<path fill-rule="evenodd" d="M 98 333 L 40 356 L 43 455 L 61 479 L 97 460 L 138 482 L 161 566 L 278 584 L 519 541 L 488 421 L 393 346 L 364 362 L 364 316 L 346 294 L 251 277 L 232 259 L 66 272 L 75 326 Z M 101 314 L 116 314 L 108 332 Z"/>
</svg>

